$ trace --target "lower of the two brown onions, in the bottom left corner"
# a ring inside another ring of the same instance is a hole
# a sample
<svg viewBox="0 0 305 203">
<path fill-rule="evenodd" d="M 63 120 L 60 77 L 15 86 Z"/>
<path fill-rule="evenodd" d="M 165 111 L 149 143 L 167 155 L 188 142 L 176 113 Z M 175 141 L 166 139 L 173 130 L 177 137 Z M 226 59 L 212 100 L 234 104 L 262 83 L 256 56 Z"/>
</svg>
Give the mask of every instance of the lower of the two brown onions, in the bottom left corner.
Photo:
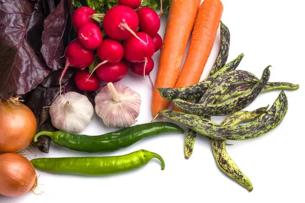
<svg viewBox="0 0 305 203">
<path fill-rule="evenodd" d="M 20 196 L 37 186 L 37 176 L 32 163 L 15 153 L 0 154 L 0 194 Z"/>
</svg>

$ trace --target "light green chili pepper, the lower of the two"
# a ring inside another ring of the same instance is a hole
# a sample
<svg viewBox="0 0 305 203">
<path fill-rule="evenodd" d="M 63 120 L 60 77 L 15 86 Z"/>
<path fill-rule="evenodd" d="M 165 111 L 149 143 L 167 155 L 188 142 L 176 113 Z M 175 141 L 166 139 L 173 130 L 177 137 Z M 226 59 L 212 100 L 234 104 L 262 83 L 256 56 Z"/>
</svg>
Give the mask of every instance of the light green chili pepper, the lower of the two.
<svg viewBox="0 0 305 203">
<path fill-rule="evenodd" d="M 153 158 L 161 161 L 164 170 L 163 158 L 146 150 L 121 156 L 37 158 L 32 159 L 31 162 L 39 170 L 54 174 L 105 176 L 135 170 L 146 165 Z"/>
</svg>

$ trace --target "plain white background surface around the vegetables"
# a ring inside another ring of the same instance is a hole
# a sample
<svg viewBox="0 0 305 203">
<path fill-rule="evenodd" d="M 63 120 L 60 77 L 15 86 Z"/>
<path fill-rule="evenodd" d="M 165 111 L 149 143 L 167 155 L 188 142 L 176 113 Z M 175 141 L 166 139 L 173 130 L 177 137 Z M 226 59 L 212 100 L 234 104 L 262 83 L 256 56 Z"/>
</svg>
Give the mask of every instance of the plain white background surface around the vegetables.
<svg viewBox="0 0 305 203">
<path fill-rule="evenodd" d="M 164 171 L 158 160 L 150 161 L 139 170 L 107 177 L 53 175 L 37 170 L 42 195 L 29 192 L 20 197 L 0 196 L 0 202 L 304 202 L 304 3 L 301 0 L 223 0 L 222 21 L 231 33 L 228 61 L 244 53 L 238 69 L 251 71 L 260 78 L 267 65 L 272 65 L 269 81 L 300 84 L 297 91 L 285 91 L 289 110 L 283 122 L 264 136 L 247 141 L 228 141 L 229 155 L 251 180 L 254 190 L 228 178 L 216 165 L 210 144 L 197 137 L 193 156 L 184 157 L 182 134 L 162 134 L 144 139 L 131 147 L 112 153 L 79 153 L 51 145 L 50 153 L 35 151 L 36 157 L 123 155 L 139 149 L 159 153 L 166 162 Z M 188 14 L 186 14 L 188 15 Z M 164 35 L 166 16 L 159 31 Z M 219 49 L 219 33 L 205 66 L 206 78 Z M 154 55 L 155 81 L 158 58 Z M 131 73 L 121 81 L 138 91 L 142 105 L 138 124 L 147 123 L 151 114 L 151 87 L 146 78 Z M 272 104 L 280 91 L 263 93 L 246 110 Z M 213 117 L 221 122 L 225 117 Z M 166 119 L 163 119 L 166 120 Z M 181 125 L 182 126 L 182 125 Z M 104 126 L 96 115 L 82 132 L 96 135 L 116 130 Z M 1 184 L 1 183 L 0 183 Z"/>
</svg>

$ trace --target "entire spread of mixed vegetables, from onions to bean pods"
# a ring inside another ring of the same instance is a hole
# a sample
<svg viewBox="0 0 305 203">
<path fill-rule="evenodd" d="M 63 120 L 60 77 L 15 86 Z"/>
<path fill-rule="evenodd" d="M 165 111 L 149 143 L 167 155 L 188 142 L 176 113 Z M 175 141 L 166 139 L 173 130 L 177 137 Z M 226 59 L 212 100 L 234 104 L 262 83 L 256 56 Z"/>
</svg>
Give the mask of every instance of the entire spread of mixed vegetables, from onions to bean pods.
<svg viewBox="0 0 305 203">
<path fill-rule="evenodd" d="M 185 157 L 197 133 L 211 143 L 217 165 L 249 191 L 251 181 L 226 152 L 226 140 L 257 138 L 276 128 L 288 111 L 283 91 L 299 86 L 269 82 L 236 70 L 243 54 L 227 63 L 230 32 L 221 21 L 220 0 L 0 0 L 0 194 L 19 196 L 37 186 L 35 168 L 56 174 L 104 176 L 123 173 L 163 158 L 147 150 L 120 156 L 36 158 L 17 154 L 27 147 L 49 152 L 50 142 L 79 152 L 111 152 L 148 137 L 185 130 Z M 155 11 L 160 9 L 160 14 Z M 187 13 L 185 11 L 188 11 Z M 169 11 L 164 42 L 160 17 Z M 220 51 L 208 77 L 199 82 L 220 26 Z M 182 59 L 191 36 L 186 62 Z M 162 47 L 162 48 L 161 48 Z M 155 85 L 151 56 L 161 50 Z M 70 68 L 69 68 L 70 67 Z M 120 83 L 128 69 L 153 86 L 150 123 L 132 126 L 141 96 Z M 105 82 L 106 84 L 103 84 Z M 269 108 L 243 111 L 260 93 L 282 89 Z M 167 110 L 168 105 L 173 110 Z M 96 113 L 105 126 L 121 129 L 81 133 Z M 220 124 L 211 116 L 228 115 Z M 252 121 L 245 125 L 239 123 Z"/>
</svg>

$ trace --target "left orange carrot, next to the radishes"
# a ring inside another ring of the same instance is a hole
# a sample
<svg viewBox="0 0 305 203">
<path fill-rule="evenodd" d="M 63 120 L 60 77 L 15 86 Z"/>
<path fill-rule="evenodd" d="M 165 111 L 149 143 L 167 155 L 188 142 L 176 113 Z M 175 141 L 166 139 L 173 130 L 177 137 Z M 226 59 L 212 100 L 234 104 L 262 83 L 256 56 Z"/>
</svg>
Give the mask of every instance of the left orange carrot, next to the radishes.
<svg viewBox="0 0 305 203">
<path fill-rule="evenodd" d="M 171 1 L 153 92 L 154 116 L 170 103 L 161 97 L 157 87 L 175 86 L 200 2 L 201 0 Z"/>
</svg>

